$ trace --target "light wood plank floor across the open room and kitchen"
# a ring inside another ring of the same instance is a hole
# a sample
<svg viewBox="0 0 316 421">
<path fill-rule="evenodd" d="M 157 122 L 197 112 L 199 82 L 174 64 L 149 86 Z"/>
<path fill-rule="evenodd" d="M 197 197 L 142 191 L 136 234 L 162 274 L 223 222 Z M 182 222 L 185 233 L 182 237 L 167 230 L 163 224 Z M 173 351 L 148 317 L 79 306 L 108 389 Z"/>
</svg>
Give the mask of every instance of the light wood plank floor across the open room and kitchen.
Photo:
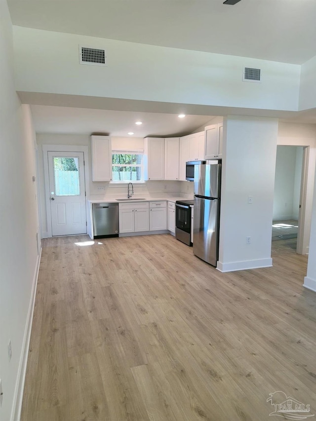
<svg viewBox="0 0 316 421">
<path fill-rule="evenodd" d="M 22 421 L 271 420 L 316 414 L 307 257 L 220 273 L 171 235 L 42 242 Z"/>
</svg>

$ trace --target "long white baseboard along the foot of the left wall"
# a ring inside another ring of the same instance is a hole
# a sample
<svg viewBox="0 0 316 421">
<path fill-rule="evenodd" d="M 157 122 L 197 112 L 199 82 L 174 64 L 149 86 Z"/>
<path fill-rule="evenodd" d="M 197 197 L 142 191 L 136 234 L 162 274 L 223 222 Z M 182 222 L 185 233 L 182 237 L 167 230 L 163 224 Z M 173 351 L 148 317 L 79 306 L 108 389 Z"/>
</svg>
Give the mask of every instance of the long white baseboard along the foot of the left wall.
<svg viewBox="0 0 316 421">
<path fill-rule="evenodd" d="M 41 256 L 41 248 L 40 248 L 40 254 L 38 256 L 38 259 L 37 259 L 37 262 L 36 262 L 36 267 L 35 267 L 35 272 L 34 272 L 31 300 L 30 300 L 29 311 L 28 311 L 28 315 L 27 315 L 27 319 L 26 319 L 24 338 L 23 338 L 23 344 L 22 344 L 22 352 L 21 352 L 21 357 L 20 357 L 19 370 L 18 370 L 18 376 L 17 376 L 16 385 L 15 385 L 15 391 L 14 391 L 11 421 L 19 421 L 20 417 L 21 417 L 23 391 L 24 391 L 24 383 L 25 383 L 25 375 L 26 375 L 26 366 L 27 366 L 27 362 L 28 362 L 30 340 L 31 340 L 31 330 L 32 330 L 32 322 L 33 322 L 33 313 L 34 313 L 34 305 L 35 305 L 35 298 L 36 298 L 36 288 L 37 288 L 37 284 L 38 284 L 39 269 L 40 269 L 40 256 Z"/>
</svg>

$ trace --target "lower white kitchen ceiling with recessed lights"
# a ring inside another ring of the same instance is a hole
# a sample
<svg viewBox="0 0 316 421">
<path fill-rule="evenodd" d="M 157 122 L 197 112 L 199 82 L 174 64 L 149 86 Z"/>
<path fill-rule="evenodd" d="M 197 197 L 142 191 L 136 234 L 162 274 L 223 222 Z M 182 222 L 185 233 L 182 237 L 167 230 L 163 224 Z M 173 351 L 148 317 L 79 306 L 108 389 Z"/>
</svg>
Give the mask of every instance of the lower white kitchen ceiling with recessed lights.
<svg viewBox="0 0 316 421">
<path fill-rule="evenodd" d="M 113 110 L 92 110 L 32 105 L 32 115 L 37 133 L 107 134 L 128 137 L 181 136 L 192 133 L 205 125 L 212 116 L 141 113 Z M 143 124 L 137 125 L 136 121 Z"/>
</svg>

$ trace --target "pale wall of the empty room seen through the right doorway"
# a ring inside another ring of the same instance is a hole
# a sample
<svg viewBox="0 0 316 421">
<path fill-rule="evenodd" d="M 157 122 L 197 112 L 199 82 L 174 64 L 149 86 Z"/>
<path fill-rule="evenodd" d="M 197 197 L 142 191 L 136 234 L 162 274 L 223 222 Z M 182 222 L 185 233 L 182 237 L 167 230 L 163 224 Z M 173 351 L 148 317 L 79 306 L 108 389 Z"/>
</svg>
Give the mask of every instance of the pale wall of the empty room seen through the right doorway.
<svg viewBox="0 0 316 421">
<path fill-rule="evenodd" d="M 298 219 L 303 148 L 277 146 L 273 220 Z"/>
</svg>

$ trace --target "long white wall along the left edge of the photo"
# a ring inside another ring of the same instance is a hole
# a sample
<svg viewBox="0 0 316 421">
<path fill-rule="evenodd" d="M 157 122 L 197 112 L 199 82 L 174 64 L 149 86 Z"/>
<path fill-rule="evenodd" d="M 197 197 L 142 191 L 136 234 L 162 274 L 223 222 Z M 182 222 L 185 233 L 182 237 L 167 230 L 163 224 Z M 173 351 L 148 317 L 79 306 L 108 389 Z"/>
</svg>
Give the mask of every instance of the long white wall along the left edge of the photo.
<svg viewBox="0 0 316 421">
<path fill-rule="evenodd" d="M 38 263 L 38 212 L 32 180 L 36 175 L 35 132 L 30 108 L 21 106 L 14 88 L 12 25 L 6 1 L 0 1 L 0 56 L 0 419 L 8 421 L 17 420 L 14 414 L 21 403 Z"/>
</svg>

